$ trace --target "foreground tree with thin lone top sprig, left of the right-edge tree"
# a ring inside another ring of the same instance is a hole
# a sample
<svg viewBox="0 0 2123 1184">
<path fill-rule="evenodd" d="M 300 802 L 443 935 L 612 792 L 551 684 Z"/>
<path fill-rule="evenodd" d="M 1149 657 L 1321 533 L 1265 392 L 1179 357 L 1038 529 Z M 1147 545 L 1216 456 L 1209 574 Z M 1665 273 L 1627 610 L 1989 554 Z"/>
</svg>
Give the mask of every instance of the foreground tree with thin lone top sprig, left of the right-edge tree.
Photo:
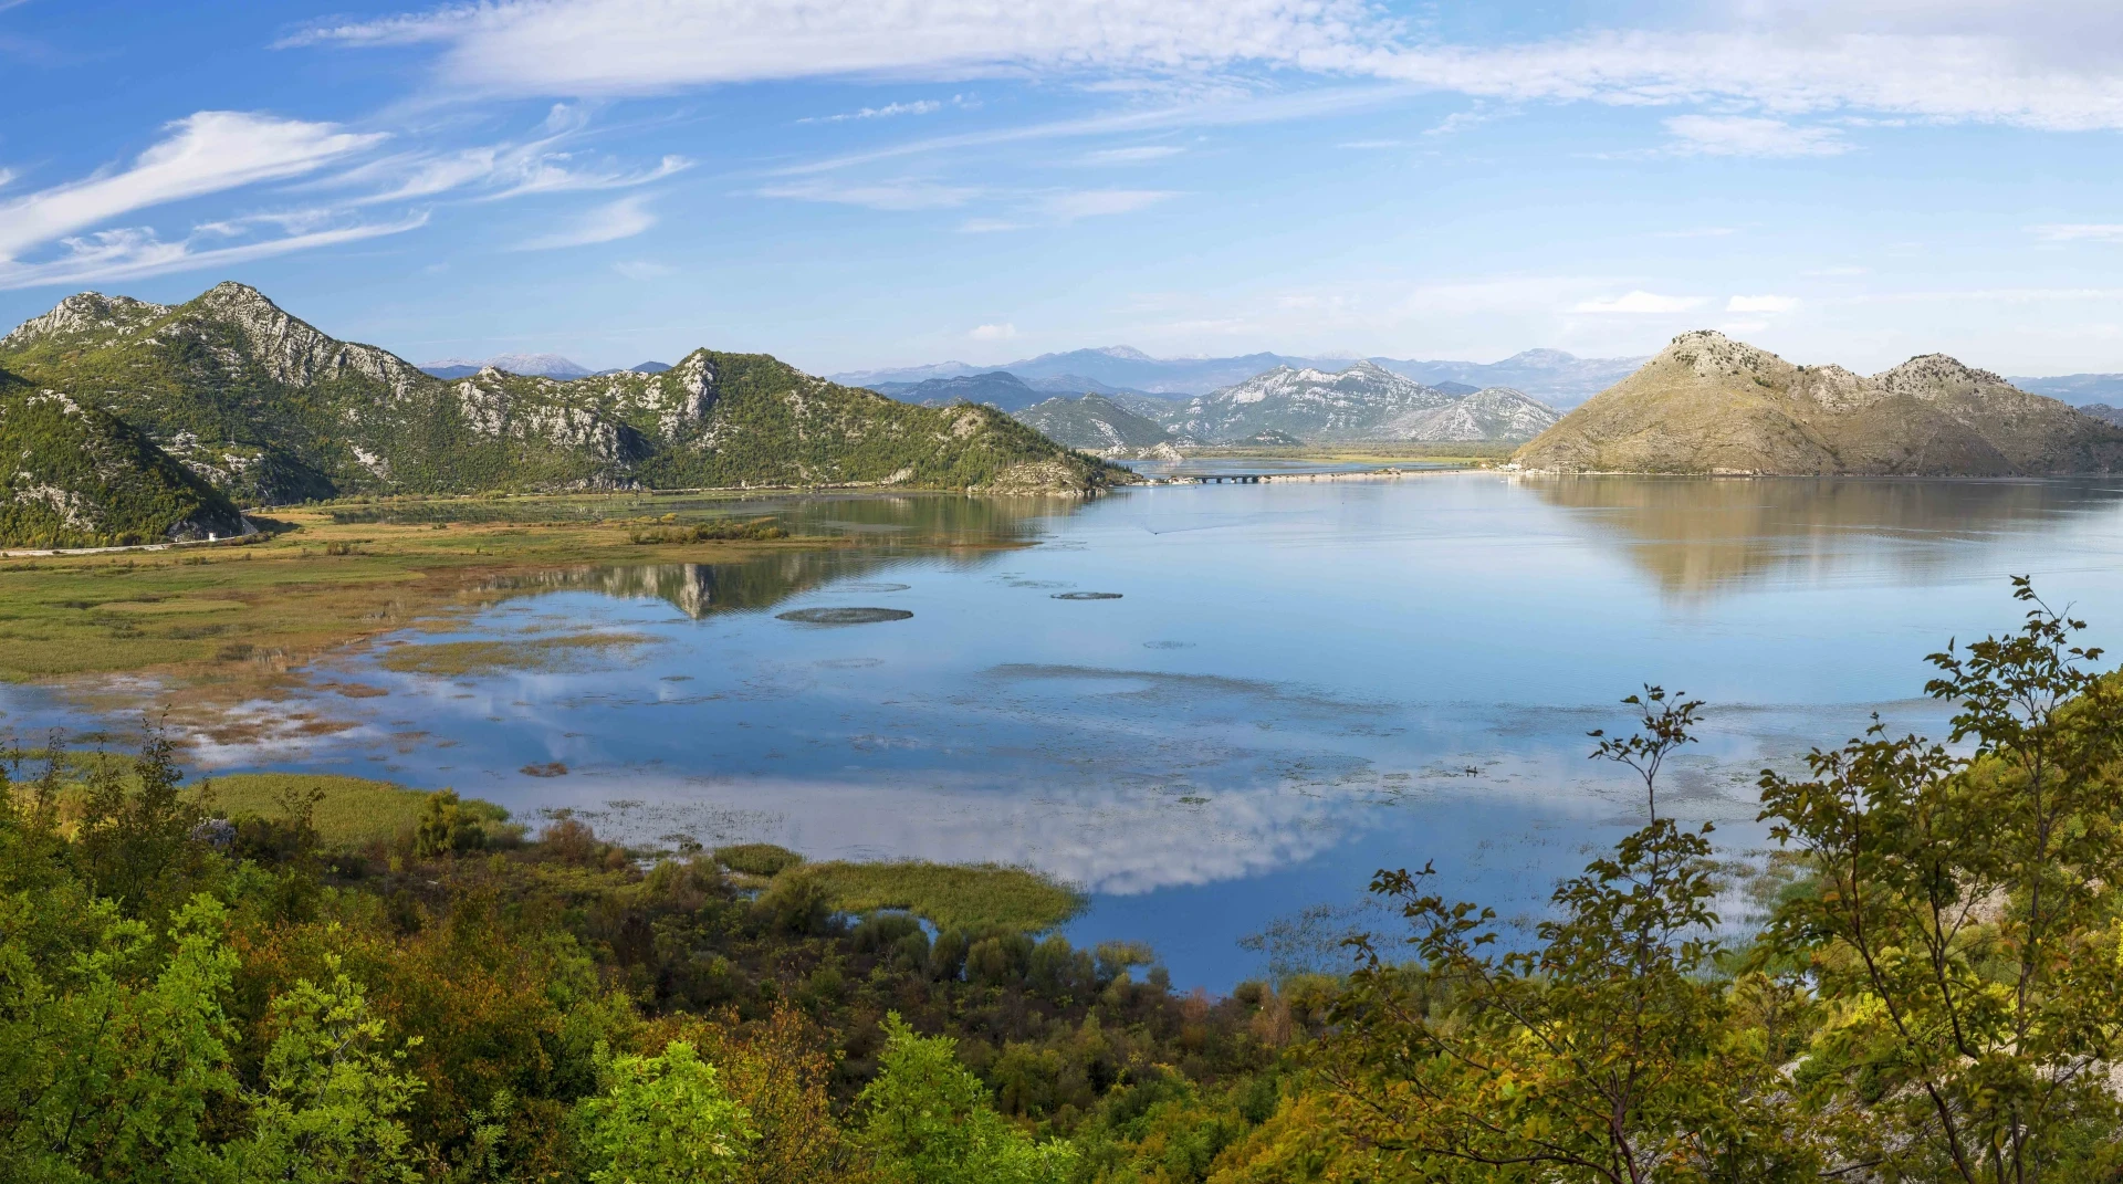
<svg viewBox="0 0 2123 1184">
<path fill-rule="evenodd" d="M 1643 779 L 1652 821 L 1563 881 L 1535 944 L 1490 953 L 1495 912 L 1380 872 L 1414 946 L 1361 968 L 1323 1057 L 1350 1154 L 1386 1178 L 1773 1182 L 1811 1176 L 1766 1048 L 1732 1023 L 1713 978 L 1711 828 L 1656 815 L 1660 764 L 1692 741 L 1701 702 L 1630 696 L 1641 730 L 1594 758 Z"/>
</svg>

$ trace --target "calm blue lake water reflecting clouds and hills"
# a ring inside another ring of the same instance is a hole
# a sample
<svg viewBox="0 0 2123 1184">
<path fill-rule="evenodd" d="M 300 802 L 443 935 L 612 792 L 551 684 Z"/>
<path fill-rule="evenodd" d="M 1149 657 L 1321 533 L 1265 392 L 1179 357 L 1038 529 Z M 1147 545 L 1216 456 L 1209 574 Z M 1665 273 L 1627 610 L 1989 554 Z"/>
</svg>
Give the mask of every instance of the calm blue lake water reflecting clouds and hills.
<svg viewBox="0 0 2123 1184">
<path fill-rule="evenodd" d="M 1176 982 L 1227 989 L 1342 965 L 1386 866 L 1537 915 L 1641 821 L 1586 760 L 1639 683 L 1709 700 L 1660 802 L 1745 855 L 1764 764 L 1875 711 L 1940 730 L 1923 656 L 2010 628 L 2008 575 L 2123 637 L 2108 482 L 1433 473 L 745 511 L 866 545 L 518 579 L 405 641 L 645 641 L 459 679 L 355 658 L 335 677 L 391 692 L 331 696 L 359 728 L 202 758 L 571 806 L 641 840 L 1030 864 L 1093 893 L 1072 938 L 1144 940 Z M 777 620 L 832 607 L 913 615 Z M 529 772 L 548 762 L 567 772 Z"/>
</svg>

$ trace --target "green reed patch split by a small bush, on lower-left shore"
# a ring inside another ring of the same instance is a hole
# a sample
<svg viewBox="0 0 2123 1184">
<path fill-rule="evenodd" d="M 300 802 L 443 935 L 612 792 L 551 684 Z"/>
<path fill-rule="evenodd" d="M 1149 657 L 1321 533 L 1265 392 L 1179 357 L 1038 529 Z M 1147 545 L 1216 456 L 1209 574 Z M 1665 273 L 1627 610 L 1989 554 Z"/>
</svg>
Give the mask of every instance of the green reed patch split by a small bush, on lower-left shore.
<svg viewBox="0 0 2123 1184">
<path fill-rule="evenodd" d="M 429 794 L 391 781 L 333 777 L 323 772 L 231 772 L 191 789 L 202 806 L 231 819 L 287 819 L 310 804 L 310 825 L 329 849 L 359 849 L 372 842 L 412 842 Z M 516 836 L 510 813 L 478 798 L 459 800 L 493 838 Z"/>
</svg>

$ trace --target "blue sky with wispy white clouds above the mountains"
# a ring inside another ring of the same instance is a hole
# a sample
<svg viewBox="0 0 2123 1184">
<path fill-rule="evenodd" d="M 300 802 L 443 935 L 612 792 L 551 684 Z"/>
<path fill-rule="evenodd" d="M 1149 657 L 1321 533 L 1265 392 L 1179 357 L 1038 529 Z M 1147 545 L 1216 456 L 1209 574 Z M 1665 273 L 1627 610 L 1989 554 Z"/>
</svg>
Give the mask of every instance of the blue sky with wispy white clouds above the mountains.
<svg viewBox="0 0 2123 1184">
<path fill-rule="evenodd" d="M 0 320 L 2123 371 L 2112 0 L 0 0 Z"/>
</svg>

